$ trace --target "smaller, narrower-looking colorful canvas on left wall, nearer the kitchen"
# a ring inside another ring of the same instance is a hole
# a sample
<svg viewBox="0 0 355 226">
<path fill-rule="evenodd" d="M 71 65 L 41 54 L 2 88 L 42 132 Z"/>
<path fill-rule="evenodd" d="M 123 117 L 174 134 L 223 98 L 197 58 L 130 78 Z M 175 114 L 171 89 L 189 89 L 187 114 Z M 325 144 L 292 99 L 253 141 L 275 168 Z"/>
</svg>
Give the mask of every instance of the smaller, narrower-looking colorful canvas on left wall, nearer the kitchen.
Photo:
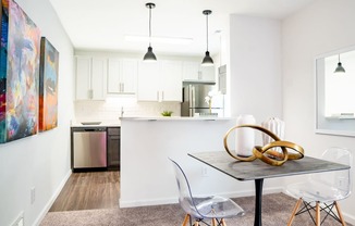
<svg viewBox="0 0 355 226">
<path fill-rule="evenodd" d="M 58 64 L 59 52 L 45 38 L 40 41 L 39 130 L 58 125 Z"/>
</svg>

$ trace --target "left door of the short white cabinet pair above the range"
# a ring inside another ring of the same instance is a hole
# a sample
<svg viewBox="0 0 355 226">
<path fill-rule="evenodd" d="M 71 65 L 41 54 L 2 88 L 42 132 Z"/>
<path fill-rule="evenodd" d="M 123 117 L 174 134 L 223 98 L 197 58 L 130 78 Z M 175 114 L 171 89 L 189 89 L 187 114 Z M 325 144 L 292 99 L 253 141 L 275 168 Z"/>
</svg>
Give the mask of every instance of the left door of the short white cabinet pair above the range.
<svg viewBox="0 0 355 226">
<path fill-rule="evenodd" d="M 119 59 L 109 59 L 108 64 L 108 92 L 119 93 L 122 90 L 121 61 Z"/>
</svg>

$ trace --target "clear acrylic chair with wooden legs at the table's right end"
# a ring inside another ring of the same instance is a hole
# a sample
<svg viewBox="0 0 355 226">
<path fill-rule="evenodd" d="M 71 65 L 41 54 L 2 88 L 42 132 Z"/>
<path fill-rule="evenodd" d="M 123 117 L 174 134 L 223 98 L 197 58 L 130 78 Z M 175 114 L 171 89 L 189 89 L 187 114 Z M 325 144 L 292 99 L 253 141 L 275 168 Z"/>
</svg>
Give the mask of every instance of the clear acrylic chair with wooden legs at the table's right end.
<svg viewBox="0 0 355 226">
<path fill-rule="evenodd" d="M 317 226 L 321 225 L 328 216 L 345 225 L 338 201 L 346 199 L 351 194 L 353 156 L 346 149 L 330 148 L 322 153 L 321 159 L 350 165 L 351 168 L 313 174 L 308 176 L 306 181 L 289 185 L 286 188 L 287 193 L 298 198 L 298 201 L 289 219 L 287 226 L 291 226 L 296 215 L 305 212 L 308 212 Z M 304 206 L 298 210 L 302 203 Z M 333 211 L 334 206 L 338 215 Z M 310 211 L 316 211 L 315 217 Z M 320 219 L 321 212 L 325 212 L 322 219 Z"/>
</svg>

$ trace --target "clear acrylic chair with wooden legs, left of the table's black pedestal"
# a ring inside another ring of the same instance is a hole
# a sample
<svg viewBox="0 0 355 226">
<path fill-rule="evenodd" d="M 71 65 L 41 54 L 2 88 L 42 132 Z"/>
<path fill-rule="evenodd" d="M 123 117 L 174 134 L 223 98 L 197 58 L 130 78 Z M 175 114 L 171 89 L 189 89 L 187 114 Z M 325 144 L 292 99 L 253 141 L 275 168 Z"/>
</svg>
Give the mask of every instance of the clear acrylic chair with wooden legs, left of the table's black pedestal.
<svg viewBox="0 0 355 226">
<path fill-rule="evenodd" d="M 186 226 L 187 223 L 192 225 L 193 221 L 194 226 L 200 223 L 210 225 L 206 221 L 210 221 L 212 226 L 225 226 L 224 218 L 244 215 L 244 210 L 231 199 L 217 196 L 193 197 L 185 173 L 175 161 L 171 160 L 171 162 L 179 188 L 179 203 L 186 213 L 182 226 Z"/>
</svg>

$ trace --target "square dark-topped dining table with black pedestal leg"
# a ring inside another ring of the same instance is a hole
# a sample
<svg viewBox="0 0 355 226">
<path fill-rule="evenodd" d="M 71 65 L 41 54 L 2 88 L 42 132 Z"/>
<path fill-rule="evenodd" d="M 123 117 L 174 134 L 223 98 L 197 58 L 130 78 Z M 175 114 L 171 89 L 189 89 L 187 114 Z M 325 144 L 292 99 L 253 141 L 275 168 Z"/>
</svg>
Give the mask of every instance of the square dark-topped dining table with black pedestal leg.
<svg viewBox="0 0 355 226">
<path fill-rule="evenodd" d="M 286 161 L 281 166 L 273 166 L 259 159 L 250 162 L 238 161 L 231 158 L 224 151 L 193 152 L 187 154 L 237 180 L 255 181 L 254 226 L 262 225 L 261 203 L 264 179 L 350 168 L 348 165 L 342 165 L 307 155 L 299 160 Z"/>
</svg>

